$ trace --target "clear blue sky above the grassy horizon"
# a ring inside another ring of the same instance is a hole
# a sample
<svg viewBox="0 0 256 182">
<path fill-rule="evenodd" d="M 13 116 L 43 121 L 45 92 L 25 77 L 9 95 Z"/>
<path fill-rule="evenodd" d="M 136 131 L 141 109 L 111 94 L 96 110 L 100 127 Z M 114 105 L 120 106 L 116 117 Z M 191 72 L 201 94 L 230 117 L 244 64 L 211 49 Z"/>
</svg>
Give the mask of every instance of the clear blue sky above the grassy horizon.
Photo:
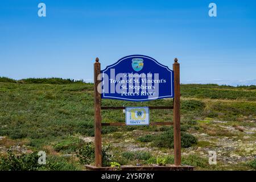
<svg viewBox="0 0 256 182">
<path fill-rule="evenodd" d="M 38 4 L 46 4 L 46 17 Z M 217 17 L 209 17 L 209 3 Z M 101 67 L 141 54 L 181 82 L 256 80 L 255 1 L 7 1 L 0 4 L 0 76 L 92 81 Z"/>
</svg>

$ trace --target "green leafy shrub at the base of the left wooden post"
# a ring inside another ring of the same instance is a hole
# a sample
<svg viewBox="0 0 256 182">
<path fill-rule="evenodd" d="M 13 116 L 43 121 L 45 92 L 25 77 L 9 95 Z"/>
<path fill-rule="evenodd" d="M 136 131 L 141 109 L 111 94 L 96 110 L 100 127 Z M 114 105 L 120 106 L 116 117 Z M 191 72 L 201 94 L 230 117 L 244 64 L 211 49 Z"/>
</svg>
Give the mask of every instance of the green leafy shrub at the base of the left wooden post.
<svg viewBox="0 0 256 182">
<path fill-rule="evenodd" d="M 109 166 L 110 155 L 107 154 L 109 146 L 102 147 L 102 166 Z M 79 148 L 77 151 L 77 157 L 80 160 L 81 164 L 91 164 L 94 162 L 94 144 L 86 143 L 84 146 Z"/>
</svg>

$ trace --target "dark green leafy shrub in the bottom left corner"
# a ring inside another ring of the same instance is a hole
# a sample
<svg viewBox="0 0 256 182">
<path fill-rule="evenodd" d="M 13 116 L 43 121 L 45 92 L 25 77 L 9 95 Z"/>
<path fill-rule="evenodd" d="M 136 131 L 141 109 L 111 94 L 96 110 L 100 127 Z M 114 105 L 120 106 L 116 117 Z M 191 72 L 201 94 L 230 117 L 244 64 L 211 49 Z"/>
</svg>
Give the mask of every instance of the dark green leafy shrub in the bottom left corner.
<svg viewBox="0 0 256 182">
<path fill-rule="evenodd" d="M 8 150 L 7 156 L 0 158 L 1 171 L 35 171 L 40 165 L 38 164 L 39 156 L 37 152 L 32 154 L 14 155 L 13 151 Z"/>
</svg>

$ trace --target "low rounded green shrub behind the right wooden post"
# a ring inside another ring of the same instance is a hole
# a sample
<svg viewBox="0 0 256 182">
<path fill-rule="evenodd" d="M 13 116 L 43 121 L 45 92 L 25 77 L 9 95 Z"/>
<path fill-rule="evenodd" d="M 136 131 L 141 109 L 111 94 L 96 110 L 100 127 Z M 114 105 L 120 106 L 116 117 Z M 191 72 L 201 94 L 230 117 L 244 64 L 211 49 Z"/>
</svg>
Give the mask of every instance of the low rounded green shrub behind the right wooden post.
<svg viewBox="0 0 256 182">
<path fill-rule="evenodd" d="M 197 143 L 196 137 L 191 134 L 187 134 L 181 131 L 181 147 L 188 148 L 193 144 Z M 156 147 L 174 147 L 174 130 L 164 131 L 162 134 L 159 134 L 153 140 L 153 145 Z"/>
</svg>

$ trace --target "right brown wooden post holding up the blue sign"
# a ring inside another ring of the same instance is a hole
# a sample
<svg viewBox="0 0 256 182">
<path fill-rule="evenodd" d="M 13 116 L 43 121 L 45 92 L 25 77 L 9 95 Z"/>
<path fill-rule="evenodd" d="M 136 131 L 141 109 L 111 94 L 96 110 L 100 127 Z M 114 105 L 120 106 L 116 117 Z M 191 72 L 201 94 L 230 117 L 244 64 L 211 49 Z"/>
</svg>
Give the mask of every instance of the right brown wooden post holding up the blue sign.
<svg viewBox="0 0 256 182">
<path fill-rule="evenodd" d="M 181 165 L 180 137 L 180 64 L 174 59 L 174 164 Z"/>
</svg>

